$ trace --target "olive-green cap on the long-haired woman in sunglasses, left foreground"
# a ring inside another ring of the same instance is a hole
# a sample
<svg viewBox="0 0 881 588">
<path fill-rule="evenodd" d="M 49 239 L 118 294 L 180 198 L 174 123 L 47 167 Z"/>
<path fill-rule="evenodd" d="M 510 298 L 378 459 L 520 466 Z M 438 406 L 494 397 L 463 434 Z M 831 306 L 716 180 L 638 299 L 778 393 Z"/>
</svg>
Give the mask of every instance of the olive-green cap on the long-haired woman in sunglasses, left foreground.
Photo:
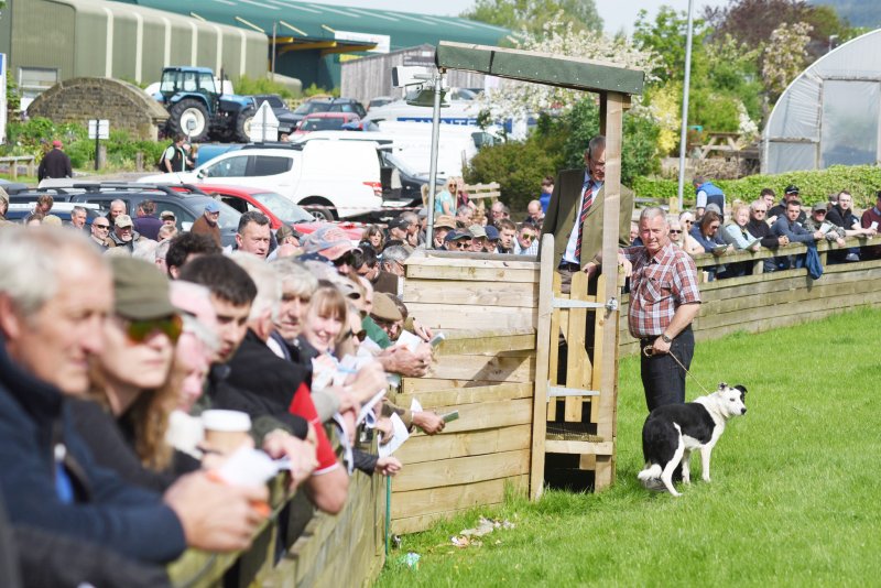
<svg viewBox="0 0 881 588">
<path fill-rule="evenodd" d="M 175 314 L 168 279 L 155 264 L 129 255 L 111 257 L 113 311 L 123 318 L 149 320 Z"/>
</svg>

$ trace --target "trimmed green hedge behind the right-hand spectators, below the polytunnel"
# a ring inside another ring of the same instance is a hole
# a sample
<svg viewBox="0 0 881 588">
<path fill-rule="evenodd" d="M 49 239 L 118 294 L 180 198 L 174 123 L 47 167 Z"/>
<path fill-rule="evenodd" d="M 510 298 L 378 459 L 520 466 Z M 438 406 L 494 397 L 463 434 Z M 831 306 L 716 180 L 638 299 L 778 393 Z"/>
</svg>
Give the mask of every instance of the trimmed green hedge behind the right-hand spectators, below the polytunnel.
<svg viewBox="0 0 881 588">
<path fill-rule="evenodd" d="M 830 194 L 842 189 L 853 196 L 853 202 L 859 208 L 874 204 L 874 195 L 881 189 L 881 167 L 873 165 L 834 165 L 827 170 L 809 172 L 787 172 L 779 175 L 751 175 L 740 179 L 714 181 L 725 190 L 728 202 L 741 199 L 751 202 L 759 197 L 762 188 L 771 188 L 779 197 L 790 184 L 795 184 L 801 189 L 802 203 L 806 205 L 826 200 Z M 650 177 L 637 177 L 631 186 L 638 197 L 642 198 L 675 198 L 676 181 Z M 694 202 L 694 188 L 688 183 L 685 186 L 684 197 Z"/>
</svg>

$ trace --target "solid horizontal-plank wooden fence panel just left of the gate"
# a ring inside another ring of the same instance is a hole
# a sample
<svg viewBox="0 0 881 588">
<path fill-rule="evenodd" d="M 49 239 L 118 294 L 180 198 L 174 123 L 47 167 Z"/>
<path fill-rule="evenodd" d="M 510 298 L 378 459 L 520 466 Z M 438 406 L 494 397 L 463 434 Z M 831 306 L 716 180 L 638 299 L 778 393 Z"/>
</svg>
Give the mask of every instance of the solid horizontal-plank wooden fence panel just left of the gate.
<svg viewBox="0 0 881 588">
<path fill-rule="evenodd" d="M 433 437 L 414 434 L 398 451 L 392 530 L 411 533 L 530 487 L 539 264 L 502 255 L 428 253 L 406 263 L 404 302 L 442 330 L 427 378 L 405 378 L 395 403 L 459 411 Z"/>
</svg>

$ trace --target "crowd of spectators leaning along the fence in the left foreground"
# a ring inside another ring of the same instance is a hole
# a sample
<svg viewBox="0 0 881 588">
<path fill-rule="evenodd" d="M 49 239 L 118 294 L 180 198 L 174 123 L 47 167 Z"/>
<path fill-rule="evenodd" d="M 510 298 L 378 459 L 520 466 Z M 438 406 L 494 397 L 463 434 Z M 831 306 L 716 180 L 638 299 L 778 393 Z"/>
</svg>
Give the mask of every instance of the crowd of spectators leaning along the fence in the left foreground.
<svg viewBox="0 0 881 588">
<path fill-rule="evenodd" d="M 88 227 L 0 225 L 0 545 L 28 584 L 163 586 L 187 547 L 246 548 L 265 486 L 218 477 L 242 448 L 337 513 L 351 476 L 403 467 L 365 438 L 444 429 L 385 395 L 433 361 L 399 296 L 417 215 L 356 247 L 251 211 L 225 250 L 115 205 Z M 213 444 L 218 410 L 247 415 L 248 443 Z"/>
</svg>

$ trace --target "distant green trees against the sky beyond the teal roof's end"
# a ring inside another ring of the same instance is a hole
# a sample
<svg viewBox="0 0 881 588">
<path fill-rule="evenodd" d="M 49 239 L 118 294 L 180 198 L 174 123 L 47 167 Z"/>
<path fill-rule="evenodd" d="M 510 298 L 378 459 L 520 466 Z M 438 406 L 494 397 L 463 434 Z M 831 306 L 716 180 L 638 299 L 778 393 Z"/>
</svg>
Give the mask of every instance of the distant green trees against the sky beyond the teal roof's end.
<svg viewBox="0 0 881 588">
<path fill-rule="evenodd" d="M 594 0 L 476 0 L 460 17 L 541 35 L 545 24 L 558 14 L 578 31 L 602 32 Z"/>
</svg>

